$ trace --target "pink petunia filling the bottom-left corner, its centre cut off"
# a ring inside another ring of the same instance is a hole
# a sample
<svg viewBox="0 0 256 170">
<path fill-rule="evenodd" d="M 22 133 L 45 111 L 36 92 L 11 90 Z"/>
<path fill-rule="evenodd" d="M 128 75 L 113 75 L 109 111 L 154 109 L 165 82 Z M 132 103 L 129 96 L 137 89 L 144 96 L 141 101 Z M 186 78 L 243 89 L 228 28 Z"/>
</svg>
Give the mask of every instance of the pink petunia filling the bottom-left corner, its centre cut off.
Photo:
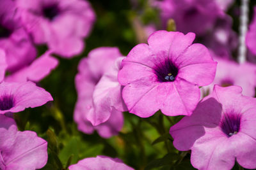
<svg viewBox="0 0 256 170">
<path fill-rule="evenodd" d="M 47 162 L 47 142 L 35 132 L 20 132 L 12 118 L 0 115 L 0 169 L 40 169 Z"/>
</svg>

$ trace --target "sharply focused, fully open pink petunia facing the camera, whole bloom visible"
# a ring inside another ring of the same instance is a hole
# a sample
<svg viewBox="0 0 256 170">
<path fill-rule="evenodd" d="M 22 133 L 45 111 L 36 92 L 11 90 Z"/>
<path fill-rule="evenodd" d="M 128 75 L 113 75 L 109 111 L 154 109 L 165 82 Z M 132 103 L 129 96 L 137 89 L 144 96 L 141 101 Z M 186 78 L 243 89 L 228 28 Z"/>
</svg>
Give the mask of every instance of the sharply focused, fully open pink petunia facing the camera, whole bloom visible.
<svg viewBox="0 0 256 170">
<path fill-rule="evenodd" d="M 156 31 L 147 44 L 132 48 L 123 60 L 118 80 L 130 113 L 150 117 L 190 115 L 200 98 L 198 86 L 211 83 L 214 62 L 207 48 L 193 44 L 195 34 Z"/>
</svg>

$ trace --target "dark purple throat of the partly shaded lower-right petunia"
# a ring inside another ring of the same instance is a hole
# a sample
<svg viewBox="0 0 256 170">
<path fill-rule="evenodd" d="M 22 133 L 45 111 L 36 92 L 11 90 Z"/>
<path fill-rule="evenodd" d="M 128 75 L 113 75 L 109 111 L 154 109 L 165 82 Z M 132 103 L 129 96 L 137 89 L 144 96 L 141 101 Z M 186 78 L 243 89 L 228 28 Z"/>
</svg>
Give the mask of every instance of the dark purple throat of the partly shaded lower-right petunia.
<svg viewBox="0 0 256 170">
<path fill-rule="evenodd" d="M 227 134 L 228 137 L 237 134 L 240 129 L 241 114 L 223 114 L 221 118 L 220 127 L 221 130 Z"/>
</svg>

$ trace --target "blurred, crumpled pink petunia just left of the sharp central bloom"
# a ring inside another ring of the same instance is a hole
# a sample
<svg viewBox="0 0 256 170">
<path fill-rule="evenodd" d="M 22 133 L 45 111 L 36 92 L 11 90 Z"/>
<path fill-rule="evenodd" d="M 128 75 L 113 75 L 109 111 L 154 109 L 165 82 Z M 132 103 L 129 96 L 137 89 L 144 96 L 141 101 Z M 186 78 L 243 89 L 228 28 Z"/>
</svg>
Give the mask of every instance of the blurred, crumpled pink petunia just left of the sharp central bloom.
<svg viewBox="0 0 256 170">
<path fill-rule="evenodd" d="M 120 56 L 118 48 L 100 47 L 92 50 L 88 58 L 79 63 L 74 111 L 79 131 L 92 133 L 96 129 L 100 136 L 109 138 L 122 129 L 124 120 L 121 111 L 127 109 L 117 81 L 122 60 L 122 57 L 118 58 Z"/>
</svg>

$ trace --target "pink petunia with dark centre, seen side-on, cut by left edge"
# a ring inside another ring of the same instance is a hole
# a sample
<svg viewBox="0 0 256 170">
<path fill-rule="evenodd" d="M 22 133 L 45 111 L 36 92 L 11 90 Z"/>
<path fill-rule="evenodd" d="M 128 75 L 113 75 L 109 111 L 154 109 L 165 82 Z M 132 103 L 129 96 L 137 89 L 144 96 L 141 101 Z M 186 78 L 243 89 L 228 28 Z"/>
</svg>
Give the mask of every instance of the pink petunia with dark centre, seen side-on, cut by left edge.
<svg viewBox="0 0 256 170">
<path fill-rule="evenodd" d="M 42 106 L 52 101 L 52 96 L 31 81 L 3 82 L 0 84 L 0 114 L 16 113 L 25 108 Z"/>
</svg>

